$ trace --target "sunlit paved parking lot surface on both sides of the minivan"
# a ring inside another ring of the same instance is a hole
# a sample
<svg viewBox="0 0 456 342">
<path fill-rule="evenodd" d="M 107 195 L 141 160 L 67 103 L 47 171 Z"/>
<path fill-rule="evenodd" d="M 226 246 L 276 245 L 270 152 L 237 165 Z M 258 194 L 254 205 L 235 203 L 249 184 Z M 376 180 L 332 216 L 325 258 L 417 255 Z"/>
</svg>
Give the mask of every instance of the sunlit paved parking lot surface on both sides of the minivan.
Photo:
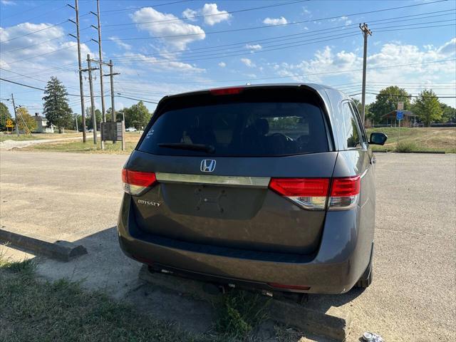
<svg viewBox="0 0 456 342">
<path fill-rule="evenodd" d="M 456 333 L 456 155 L 377 157 L 373 284 L 363 292 L 311 296 L 308 305 L 351 310 L 349 341 L 363 331 L 385 341 L 449 341 Z M 43 276 L 86 279 L 89 288 L 117 297 L 137 288 L 139 265 L 120 253 L 113 229 L 125 159 L 1 152 L 1 225 L 78 240 L 89 251 L 71 264 L 44 261 Z"/>
</svg>

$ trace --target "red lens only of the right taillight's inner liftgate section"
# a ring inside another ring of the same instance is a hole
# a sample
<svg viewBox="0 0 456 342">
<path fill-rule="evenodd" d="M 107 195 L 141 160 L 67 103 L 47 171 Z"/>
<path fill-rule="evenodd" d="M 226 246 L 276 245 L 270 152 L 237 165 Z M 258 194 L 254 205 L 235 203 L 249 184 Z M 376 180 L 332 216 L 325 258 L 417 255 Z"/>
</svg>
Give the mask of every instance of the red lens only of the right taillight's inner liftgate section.
<svg viewBox="0 0 456 342">
<path fill-rule="evenodd" d="M 269 188 L 282 196 L 328 196 L 328 178 L 271 178 Z"/>
</svg>

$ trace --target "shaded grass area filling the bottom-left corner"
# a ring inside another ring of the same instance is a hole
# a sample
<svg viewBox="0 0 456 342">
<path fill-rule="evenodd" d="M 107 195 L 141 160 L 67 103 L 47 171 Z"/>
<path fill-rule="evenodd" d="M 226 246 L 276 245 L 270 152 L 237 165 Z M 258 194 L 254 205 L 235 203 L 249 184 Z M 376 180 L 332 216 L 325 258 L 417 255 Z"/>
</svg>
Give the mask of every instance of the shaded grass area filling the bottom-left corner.
<svg viewBox="0 0 456 342">
<path fill-rule="evenodd" d="M 204 341 L 78 283 L 38 281 L 31 265 L 1 261 L 0 341 Z"/>
</svg>

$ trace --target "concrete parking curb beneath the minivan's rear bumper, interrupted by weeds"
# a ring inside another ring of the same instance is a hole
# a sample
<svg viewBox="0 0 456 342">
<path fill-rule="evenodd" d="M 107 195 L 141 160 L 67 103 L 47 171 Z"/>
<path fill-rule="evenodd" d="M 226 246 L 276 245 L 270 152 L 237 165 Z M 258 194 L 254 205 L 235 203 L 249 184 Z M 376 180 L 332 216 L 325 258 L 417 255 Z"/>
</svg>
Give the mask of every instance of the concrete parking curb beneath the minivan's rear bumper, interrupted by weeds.
<svg viewBox="0 0 456 342">
<path fill-rule="evenodd" d="M 165 289 L 178 293 L 190 294 L 197 299 L 219 301 L 219 294 L 209 294 L 207 286 L 202 281 L 183 279 L 175 276 L 168 276 L 158 272 L 150 273 L 147 266 L 142 266 L 139 277 L 152 285 L 164 287 Z M 214 286 L 216 287 L 216 286 Z M 216 288 L 217 289 L 217 288 Z M 308 309 L 305 304 L 297 304 L 293 301 L 273 299 L 270 306 L 269 318 L 272 321 L 294 326 L 325 338 L 336 341 L 345 341 L 351 326 L 351 314 L 331 306 L 328 310 Z"/>
</svg>

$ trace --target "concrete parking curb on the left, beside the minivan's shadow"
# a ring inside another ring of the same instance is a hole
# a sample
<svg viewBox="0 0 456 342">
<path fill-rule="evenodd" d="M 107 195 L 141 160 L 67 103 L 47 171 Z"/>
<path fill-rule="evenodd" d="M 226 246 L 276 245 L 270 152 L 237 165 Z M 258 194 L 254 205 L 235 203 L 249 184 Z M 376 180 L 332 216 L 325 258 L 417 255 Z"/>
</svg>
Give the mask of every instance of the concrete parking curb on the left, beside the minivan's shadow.
<svg viewBox="0 0 456 342">
<path fill-rule="evenodd" d="M 61 261 L 70 261 L 74 257 L 87 254 L 86 248 L 81 244 L 51 240 L 36 234 L 11 232 L 6 229 L 0 229 L 0 241 L 10 242 L 13 246 L 28 249 L 38 254 L 45 254 Z"/>
</svg>

